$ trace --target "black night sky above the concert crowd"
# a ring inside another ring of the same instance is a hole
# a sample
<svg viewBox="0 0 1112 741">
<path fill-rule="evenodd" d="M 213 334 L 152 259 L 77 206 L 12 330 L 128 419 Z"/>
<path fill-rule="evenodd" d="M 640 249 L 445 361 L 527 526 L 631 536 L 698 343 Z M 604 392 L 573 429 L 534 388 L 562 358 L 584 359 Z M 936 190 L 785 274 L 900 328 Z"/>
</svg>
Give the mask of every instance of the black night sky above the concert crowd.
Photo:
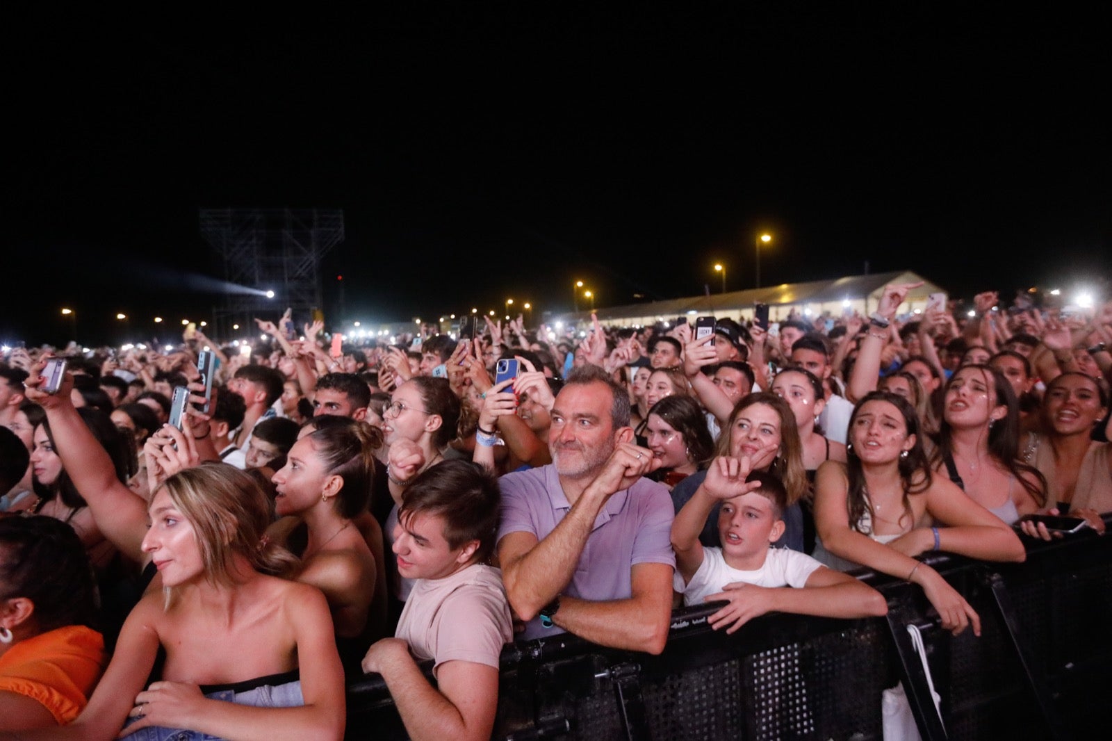
<svg viewBox="0 0 1112 741">
<path fill-rule="evenodd" d="M 342 208 L 332 320 L 746 288 L 761 230 L 765 285 L 1112 276 L 1108 11 L 397 4 L 10 19 L 0 339 L 205 318 L 205 207 Z"/>
</svg>

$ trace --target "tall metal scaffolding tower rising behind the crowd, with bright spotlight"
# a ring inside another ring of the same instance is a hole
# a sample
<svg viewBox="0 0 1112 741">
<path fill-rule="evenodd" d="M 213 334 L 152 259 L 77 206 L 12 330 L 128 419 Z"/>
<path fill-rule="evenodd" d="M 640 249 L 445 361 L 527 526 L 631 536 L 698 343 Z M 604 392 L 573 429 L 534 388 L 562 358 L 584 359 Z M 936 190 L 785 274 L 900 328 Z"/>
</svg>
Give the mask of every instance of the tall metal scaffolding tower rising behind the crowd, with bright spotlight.
<svg viewBox="0 0 1112 741">
<path fill-rule="evenodd" d="M 298 325 L 322 309 L 320 260 L 344 241 L 341 209 L 202 208 L 200 231 L 224 260 L 224 306 L 214 309 L 222 336 L 256 316 L 276 320 L 287 306 Z M 267 290 L 274 298 L 252 293 Z"/>
</svg>

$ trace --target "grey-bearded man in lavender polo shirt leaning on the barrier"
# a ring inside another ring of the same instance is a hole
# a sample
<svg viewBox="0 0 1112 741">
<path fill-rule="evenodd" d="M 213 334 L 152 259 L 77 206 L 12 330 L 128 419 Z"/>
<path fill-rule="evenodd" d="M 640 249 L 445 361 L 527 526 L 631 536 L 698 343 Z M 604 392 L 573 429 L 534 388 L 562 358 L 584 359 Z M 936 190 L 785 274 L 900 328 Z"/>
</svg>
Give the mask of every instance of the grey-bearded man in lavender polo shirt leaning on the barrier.
<svg viewBox="0 0 1112 741">
<path fill-rule="evenodd" d="M 567 631 L 659 653 L 668 636 L 675 554 L 667 490 L 633 444 L 629 397 L 598 366 L 556 396 L 553 463 L 502 477 L 498 561 L 525 639 Z"/>
</svg>

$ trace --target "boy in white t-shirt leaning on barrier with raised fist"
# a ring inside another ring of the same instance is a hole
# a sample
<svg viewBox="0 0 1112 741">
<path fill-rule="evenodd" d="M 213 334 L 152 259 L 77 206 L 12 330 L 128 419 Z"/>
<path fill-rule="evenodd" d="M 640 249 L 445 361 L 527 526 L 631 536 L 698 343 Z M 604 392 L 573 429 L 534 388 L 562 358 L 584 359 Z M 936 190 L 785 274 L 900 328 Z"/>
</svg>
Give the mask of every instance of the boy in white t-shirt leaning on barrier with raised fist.
<svg viewBox="0 0 1112 741">
<path fill-rule="evenodd" d="M 698 535 L 722 501 L 718 535 L 723 546 L 704 547 Z M 887 612 L 880 592 L 805 553 L 772 549 L 784 532 L 787 492 L 773 475 L 753 472 L 748 457 L 718 457 L 706 480 L 676 515 L 674 587 L 685 604 L 725 600 L 707 619 L 714 630 L 733 633 L 767 612 L 825 618 L 870 618 Z"/>
</svg>

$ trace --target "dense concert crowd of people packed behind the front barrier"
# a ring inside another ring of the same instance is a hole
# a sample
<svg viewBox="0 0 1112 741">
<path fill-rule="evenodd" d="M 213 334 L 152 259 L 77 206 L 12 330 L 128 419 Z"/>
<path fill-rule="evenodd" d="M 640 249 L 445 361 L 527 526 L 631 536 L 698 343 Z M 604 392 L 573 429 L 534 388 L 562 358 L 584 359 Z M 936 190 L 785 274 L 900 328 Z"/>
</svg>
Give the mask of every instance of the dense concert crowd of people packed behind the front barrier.
<svg viewBox="0 0 1112 741">
<path fill-rule="evenodd" d="M 1112 302 L 901 314 L 912 288 L 698 337 L 518 317 L 334 354 L 258 320 L 250 355 L 12 349 L 0 738 L 340 738 L 374 672 L 411 738 L 486 739 L 508 642 L 659 653 L 708 601 L 725 632 L 883 615 L 862 566 L 980 634 L 919 556 L 1023 561 L 1061 536 L 1033 514 L 1103 534 Z"/>
</svg>

